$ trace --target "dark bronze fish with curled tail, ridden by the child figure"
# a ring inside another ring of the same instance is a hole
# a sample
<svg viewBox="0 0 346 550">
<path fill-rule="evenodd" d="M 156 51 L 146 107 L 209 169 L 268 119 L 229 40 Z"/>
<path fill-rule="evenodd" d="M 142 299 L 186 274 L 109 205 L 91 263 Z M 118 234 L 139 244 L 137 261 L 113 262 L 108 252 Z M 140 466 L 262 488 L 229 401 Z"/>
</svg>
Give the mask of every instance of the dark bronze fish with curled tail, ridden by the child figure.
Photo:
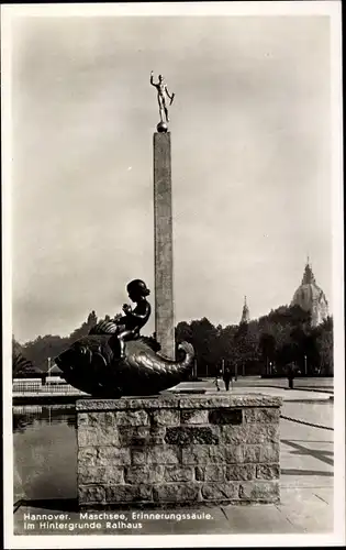
<svg viewBox="0 0 346 550">
<path fill-rule="evenodd" d="M 154 395 L 189 378 L 193 348 L 179 344 L 179 361 L 164 358 L 153 338 L 138 337 L 125 344 L 121 359 L 116 327 L 101 321 L 90 333 L 55 359 L 66 382 L 93 397 Z"/>
</svg>

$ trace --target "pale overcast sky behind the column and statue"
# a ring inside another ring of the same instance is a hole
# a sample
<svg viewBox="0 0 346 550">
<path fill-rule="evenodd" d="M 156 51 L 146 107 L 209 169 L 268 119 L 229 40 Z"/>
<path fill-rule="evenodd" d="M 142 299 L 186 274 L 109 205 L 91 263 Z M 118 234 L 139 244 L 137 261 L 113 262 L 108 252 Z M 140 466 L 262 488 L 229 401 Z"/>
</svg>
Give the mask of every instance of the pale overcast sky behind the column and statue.
<svg viewBox="0 0 346 550">
<path fill-rule="evenodd" d="M 326 16 L 16 21 L 15 337 L 114 315 L 131 278 L 154 292 L 152 69 L 176 94 L 176 321 L 289 304 L 308 254 L 331 300 L 328 41 Z"/>
</svg>

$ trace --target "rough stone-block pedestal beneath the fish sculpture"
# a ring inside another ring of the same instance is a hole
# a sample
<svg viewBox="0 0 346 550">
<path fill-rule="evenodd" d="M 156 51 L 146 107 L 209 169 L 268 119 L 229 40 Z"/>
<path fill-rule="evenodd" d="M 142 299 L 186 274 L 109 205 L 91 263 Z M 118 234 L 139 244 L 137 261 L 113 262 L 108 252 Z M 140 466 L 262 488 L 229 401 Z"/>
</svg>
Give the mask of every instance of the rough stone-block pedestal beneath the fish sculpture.
<svg viewBox="0 0 346 550">
<path fill-rule="evenodd" d="M 265 395 L 79 400 L 79 505 L 278 503 L 280 406 Z"/>
</svg>

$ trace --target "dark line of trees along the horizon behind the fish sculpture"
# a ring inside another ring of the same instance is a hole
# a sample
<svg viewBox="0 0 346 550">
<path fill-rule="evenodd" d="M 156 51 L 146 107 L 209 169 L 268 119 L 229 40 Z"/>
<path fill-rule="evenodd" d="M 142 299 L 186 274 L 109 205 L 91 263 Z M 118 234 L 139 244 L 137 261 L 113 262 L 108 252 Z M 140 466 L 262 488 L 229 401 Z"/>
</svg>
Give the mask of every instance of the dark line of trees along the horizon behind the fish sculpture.
<svg viewBox="0 0 346 550">
<path fill-rule="evenodd" d="M 13 363 L 13 377 L 46 372 L 48 358 L 54 360 L 88 334 L 97 322 L 97 315 L 91 311 L 87 320 L 65 338 L 46 334 L 21 345 L 13 336 L 13 354 L 21 353 L 27 360 Z M 176 327 L 177 346 L 183 340 L 194 348 L 198 376 L 214 376 L 223 366 L 228 366 L 233 374 L 267 376 L 286 375 L 290 365 L 302 375 L 332 376 L 334 372 L 333 318 L 312 327 L 310 314 L 299 306 L 281 306 L 248 323 L 226 327 L 214 327 L 205 317 L 181 321 Z"/>
</svg>

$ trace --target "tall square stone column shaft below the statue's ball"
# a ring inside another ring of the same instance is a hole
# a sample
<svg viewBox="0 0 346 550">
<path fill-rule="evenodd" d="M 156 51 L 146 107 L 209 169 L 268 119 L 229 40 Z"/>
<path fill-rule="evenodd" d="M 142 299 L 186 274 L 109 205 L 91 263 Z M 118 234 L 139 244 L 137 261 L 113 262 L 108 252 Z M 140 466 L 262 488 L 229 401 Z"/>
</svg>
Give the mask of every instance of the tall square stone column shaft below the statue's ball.
<svg viewBox="0 0 346 550">
<path fill-rule="evenodd" d="M 158 127 L 159 128 L 159 127 Z M 155 331 L 175 359 L 170 132 L 154 133 Z"/>
</svg>

